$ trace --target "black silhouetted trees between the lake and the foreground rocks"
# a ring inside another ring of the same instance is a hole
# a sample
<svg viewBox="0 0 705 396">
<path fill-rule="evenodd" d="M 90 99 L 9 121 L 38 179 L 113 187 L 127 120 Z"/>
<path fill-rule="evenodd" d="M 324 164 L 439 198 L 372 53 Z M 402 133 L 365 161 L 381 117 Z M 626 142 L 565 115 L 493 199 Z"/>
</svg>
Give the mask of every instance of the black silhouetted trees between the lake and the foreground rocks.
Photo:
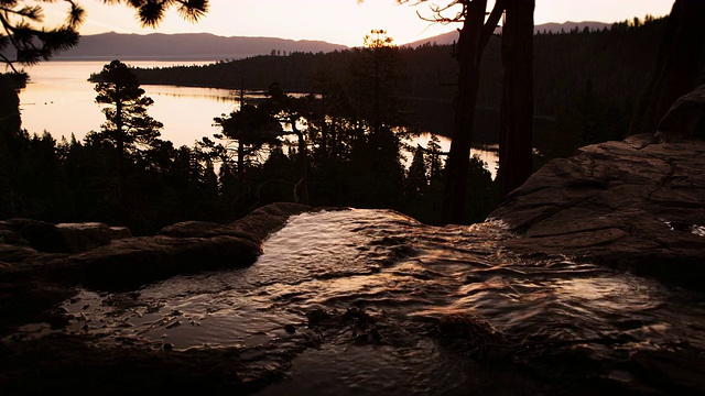
<svg viewBox="0 0 705 396">
<path fill-rule="evenodd" d="M 354 54 L 358 63 L 401 69 L 395 57 L 376 65 L 366 51 Z M 104 221 L 144 234 L 183 220 L 234 220 L 273 201 L 304 201 L 307 193 L 312 206 L 384 207 L 425 222 L 441 220 L 437 140 L 416 154 L 409 169 L 403 165 L 402 138 L 409 130 L 399 108 L 386 100 L 395 89 L 389 81 L 376 94 L 349 95 L 345 79 L 322 73 L 315 76 L 319 94 L 305 97 L 271 85 L 264 102 L 215 118 L 219 135 L 177 148 L 158 139 L 156 121 L 133 122 L 133 117 L 149 118 L 151 103 L 139 82 L 117 73 L 124 72 L 120 63 L 106 70 L 95 76 L 98 97 L 109 105 L 101 131 L 83 142 L 56 142 L 48 133 L 21 131 L 18 120 L 0 134 L 1 217 Z M 109 78 L 110 70 L 121 77 Z M 384 101 L 379 111 L 355 106 L 377 100 Z M 123 117 L 118 117 L 118 102 Z M 130 111 L 130 106 L 140 109 Z M 486 196 L 494 183 L 481 162 L 474 164 L 468 183 L 484 191 L 473 199 L 473 219 L 479 221 L 494 207 L 492 195 Z"/>
</svg>

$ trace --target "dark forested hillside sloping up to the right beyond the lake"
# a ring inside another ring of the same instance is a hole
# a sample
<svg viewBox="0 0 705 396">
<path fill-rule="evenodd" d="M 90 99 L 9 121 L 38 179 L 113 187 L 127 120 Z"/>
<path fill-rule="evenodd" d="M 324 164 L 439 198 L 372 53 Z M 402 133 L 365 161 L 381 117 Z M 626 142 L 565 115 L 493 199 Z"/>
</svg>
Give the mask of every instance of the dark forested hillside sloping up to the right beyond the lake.
<svg viewBox="0 0 705 396">
<path fill-rule="evenodd" d="M 611 29 L 598 31 L 575 29 L 536 34 L 534 146 L 545 155 L 566 155 L 583 142 L 623 138 L 627 133 L 623 125 L 628 124 L 651 76 L 657 43 L 664 26 L 664 19 L 647 16 L 643 21 L 623 21 L 615 23 Z M 404 67 L 397 96 L 404 99 L 401 110 L 409 125 L 449 134 L 452 125 L 447 120 L 453 118 L 454 82 L 457 81 L 453 51 L 449 45 L 434 43 L 398 48 L 399 63 Z M 239 89 L 243 80 L 246 89 L 265 90 L 272 81 L 279 81 L 295 92 L 351 91 L 348 65 L 355 56 L 355 51 L 294 52 L 288 56 L 263 55 L 204 66 L 137 69 L 135 74 L 145 84 Z M 476 143 L 499 141 L 500 57 L 501 40 L 492 37 L 480 65 L 476 133 L 473 136 Z M 579 116 L 584 119 L 579 121 L 576 119 L 579 112 L 576 105 L 584 100 L 588 85 L 589 95 L 600 105 Z M 615 122 L 607 125 L 608 120 Z M 582 136 L 581 131 L 565 129 L 579 122 L 586 123 L 585 133 L 592 136 Z M 607 128 L 595 130 L 593 125 Z"/>
</svg>

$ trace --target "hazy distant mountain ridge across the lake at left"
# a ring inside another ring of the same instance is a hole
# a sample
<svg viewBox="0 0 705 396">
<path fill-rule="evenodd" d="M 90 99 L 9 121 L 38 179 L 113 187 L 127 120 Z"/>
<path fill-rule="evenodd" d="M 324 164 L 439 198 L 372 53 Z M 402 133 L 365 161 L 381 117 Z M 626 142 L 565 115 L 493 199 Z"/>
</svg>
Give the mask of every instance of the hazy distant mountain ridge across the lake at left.
<svg viewBox="0 0 705 396">
<path fill-rule="evenodd" d="M 332 52 L 345 45 L 323 41 L 275 37 L 218 36 L 210 33 L 122 34 L 101 33 L 80 37 L 77 46 L 56 56 L 58 61 L 220 61 L 291 52 Z"/>
</svg>

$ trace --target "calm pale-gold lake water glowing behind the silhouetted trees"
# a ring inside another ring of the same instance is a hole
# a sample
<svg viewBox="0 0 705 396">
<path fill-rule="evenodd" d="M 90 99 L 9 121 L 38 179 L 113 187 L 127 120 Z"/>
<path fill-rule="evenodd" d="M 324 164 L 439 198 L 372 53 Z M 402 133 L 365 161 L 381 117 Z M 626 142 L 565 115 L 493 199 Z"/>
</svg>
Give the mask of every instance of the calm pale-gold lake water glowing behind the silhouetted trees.
<svg viewBox="0 0 705 396">
<path fill-rule="evenodd" d="M 89 131 L 97 131 L 105 121 L 96 103 L 91 73 L 98 73 L 107 62 L 45 62 L 29 68 L 30 84 L 20 92 L 22 127 L 30 133 L 50 132 L 55 139 L 70 140 L 72 133 L 82 140 Z M 208 62 L 128 62 L 130 66 L 164 67 L 174 64 L 202 65 Z M 175 146 L 192 146 L 203 136 L 218 133 L 213 119 L 239 108 L 237 92 L 228 89 L 177 86 L 142 86 L 154 100 L 150 116 L 164 124 L 162 139 Z M 451 147 L 448 139 L 438 136 L 444 152 Z M 430 134 L 414 139 L 411 144 L 425 146 Z M 473 151 L 488 164 L 495 175 L 498 153 L 496 146 Z M 410 157 L 410 156 L 409 156 Z"/>
</svg>

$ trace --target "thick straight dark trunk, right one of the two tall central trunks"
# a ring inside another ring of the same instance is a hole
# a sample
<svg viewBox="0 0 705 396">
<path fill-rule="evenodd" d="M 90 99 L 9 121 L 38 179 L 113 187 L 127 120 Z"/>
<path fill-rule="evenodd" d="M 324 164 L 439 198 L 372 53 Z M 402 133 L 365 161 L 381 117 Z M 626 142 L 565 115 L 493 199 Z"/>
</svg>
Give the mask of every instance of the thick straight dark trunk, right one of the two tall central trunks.
<svg viewBox="0 0 705 396">
<path fill-rule="evenodd" d="M 521 186 L 532 173 L 533 10 L 534 0 L 507 0 L 502 29 L 500 197 Z"/>
</svg>

